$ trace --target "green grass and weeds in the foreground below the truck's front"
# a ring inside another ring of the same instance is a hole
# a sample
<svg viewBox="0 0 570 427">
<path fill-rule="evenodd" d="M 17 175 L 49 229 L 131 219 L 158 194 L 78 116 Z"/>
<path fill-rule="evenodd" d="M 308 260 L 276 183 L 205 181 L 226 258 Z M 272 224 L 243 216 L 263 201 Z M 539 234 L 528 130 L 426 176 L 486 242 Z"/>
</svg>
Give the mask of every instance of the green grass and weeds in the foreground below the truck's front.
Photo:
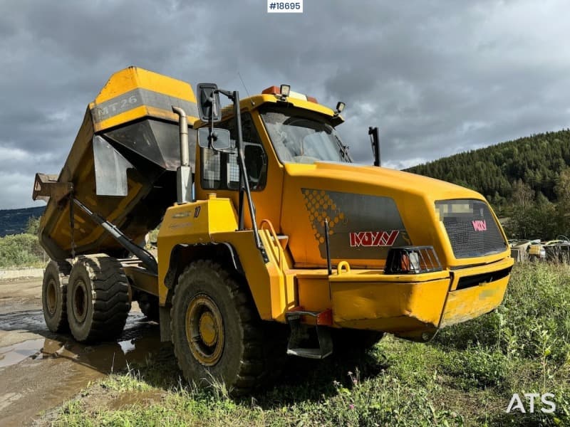
<svg viewBox="0 0 570 427">
<path fill-rule="evenodd" d="M 58 408 L 56 426 L 570 425 L 570 268 L 516 265 L 495 312 L 428 344 L 385 337 L 368 354 L 291 359 L 274 389 L 232 400 L 180 380 L 170 347 Z M 556 411 L 506 413 L 514 393 Z M 95 397 L 94 397 L 95 396 Z M 140 396 L 137 400 L 136 396 Z"/>
</svg>

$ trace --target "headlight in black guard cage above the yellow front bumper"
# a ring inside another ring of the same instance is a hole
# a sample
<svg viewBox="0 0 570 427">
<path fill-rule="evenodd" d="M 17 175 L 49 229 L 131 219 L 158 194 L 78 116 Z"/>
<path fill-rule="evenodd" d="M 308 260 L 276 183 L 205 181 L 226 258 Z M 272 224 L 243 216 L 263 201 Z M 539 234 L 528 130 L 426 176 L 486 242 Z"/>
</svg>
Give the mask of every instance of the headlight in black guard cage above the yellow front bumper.
<svg viewBox="0 0 570 427">
<path fill-rule="evenodd" d="M 403 246 L 390 249 L 384 274 L 420 274 L 441 270 L 440 259 L 433 246 Z"/>
</svg>

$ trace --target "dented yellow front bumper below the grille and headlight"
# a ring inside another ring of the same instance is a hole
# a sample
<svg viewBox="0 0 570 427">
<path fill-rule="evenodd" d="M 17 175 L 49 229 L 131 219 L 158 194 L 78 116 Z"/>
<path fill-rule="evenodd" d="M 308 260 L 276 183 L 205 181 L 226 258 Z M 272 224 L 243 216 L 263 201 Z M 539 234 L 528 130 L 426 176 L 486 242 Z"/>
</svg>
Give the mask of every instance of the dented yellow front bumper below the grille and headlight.
<svg viewBox="0 0 570 427">
<path fill-rule="evenodd" d="M 333 324 L 427 339 L 441 327 L 496 308 L 503 300 L 512 264 L 507 257 L 487 265 L 418 275 L 341 271 L 329 278 Z"/>
</svg>

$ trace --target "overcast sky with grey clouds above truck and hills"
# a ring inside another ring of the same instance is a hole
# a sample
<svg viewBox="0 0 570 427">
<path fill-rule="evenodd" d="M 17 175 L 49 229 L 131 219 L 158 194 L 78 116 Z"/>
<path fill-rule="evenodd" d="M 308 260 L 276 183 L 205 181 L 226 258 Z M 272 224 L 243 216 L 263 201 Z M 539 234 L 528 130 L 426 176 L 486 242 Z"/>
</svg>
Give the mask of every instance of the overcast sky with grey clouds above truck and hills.
<svg viewBox="0 0 570 427">
<path fill-rule="evenodd" d="M 0 0 L 0 209 L 58 173 L 88 102 L 128 65 L 249 93 L 289 83 L 334 106 L 352 156 L 402 169 L 569 127 L 566 1 Z"/>
</svg>

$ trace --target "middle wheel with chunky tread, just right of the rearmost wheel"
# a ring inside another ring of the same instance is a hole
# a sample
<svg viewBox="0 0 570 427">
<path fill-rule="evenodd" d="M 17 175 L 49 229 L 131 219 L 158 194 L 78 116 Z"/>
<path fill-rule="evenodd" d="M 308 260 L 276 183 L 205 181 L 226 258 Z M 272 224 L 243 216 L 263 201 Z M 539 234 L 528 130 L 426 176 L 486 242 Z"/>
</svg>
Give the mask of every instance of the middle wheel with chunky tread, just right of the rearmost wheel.
<svg viewBox="0 0 570 427">
<path fill-rule="evenodd" d="M 108 255 L 76 258 L 67 288 L 69 329 L 79 342 L 117 339 L 130 310 L 123 267 Z"/>
</svg>

